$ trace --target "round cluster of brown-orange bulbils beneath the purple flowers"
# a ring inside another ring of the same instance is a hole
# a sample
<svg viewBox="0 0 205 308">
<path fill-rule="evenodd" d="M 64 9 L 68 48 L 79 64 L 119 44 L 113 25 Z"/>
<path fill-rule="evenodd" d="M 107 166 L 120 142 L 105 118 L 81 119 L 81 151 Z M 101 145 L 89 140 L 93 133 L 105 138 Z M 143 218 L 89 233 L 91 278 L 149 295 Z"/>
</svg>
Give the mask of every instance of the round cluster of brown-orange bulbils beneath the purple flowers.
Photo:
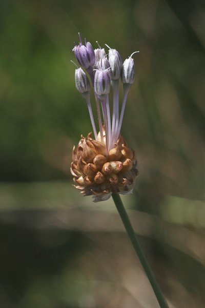
<svg viewBox="0 0 205 308">
<path fill-rule="evenodd" d="M 81 136 L 76 151 L 73 148 L 72 160 L 74 186 L 85 196 L 112 192 L 126 195 L 134 188 L 138 175 L 136 155 L 121 135 L 107 157 L 104 143 L 94 140 L 91 133 L 87 138 Z"/>
</svg>

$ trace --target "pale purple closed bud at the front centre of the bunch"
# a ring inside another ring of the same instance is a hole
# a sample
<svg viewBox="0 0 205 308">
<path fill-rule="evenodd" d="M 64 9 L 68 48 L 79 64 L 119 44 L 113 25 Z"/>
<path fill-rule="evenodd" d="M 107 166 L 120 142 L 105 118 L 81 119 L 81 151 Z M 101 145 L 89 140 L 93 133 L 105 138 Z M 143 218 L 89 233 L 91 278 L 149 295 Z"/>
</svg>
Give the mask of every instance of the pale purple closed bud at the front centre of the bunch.
<svg viewBox="0 0 205 308">
<path fill-rule="evenodd" d="M 94 88 L 100 100 L 104 100 L 106 98 L 106 95 L 109 94 L 110 85 L 110 70 L 96 70 Z"/>
</svg>

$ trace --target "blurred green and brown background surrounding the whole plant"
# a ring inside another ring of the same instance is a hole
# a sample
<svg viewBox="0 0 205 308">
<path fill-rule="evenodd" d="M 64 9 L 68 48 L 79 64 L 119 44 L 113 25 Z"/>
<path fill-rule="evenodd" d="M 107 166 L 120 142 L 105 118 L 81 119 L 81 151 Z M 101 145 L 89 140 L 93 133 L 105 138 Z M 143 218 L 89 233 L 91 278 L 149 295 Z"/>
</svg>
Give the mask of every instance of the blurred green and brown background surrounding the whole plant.
<svg viewBox="0 0 205 308">
<path fill-rule="evenodd" d="M 0 305 L 158 307 L 112 199 L 72 186 L 73 144 L 92 129 L 70 61 L 78 31 L 124 60 L 139 50 L 121 131 L 140 176 L 123 201 L 170 307 L 204 307 L 199 0 L 1 1 Z"/>
</svg>

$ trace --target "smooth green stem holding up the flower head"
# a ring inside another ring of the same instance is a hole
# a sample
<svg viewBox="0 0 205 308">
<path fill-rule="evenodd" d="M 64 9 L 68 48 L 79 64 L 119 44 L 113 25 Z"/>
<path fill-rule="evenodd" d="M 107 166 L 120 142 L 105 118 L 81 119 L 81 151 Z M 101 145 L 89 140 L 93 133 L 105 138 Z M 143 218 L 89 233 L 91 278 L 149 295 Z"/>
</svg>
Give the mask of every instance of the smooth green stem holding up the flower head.
<svg viewBox="0 0 205 308">
<path fill-rule="evenodd" d="M 149 265 L 149 263 L 148 263 L 148 261 L 146 259 L 144 251 L 142 250 L 141 245 L 140 245 L 140 243 L 139 243 L 139 241 L 138 241 L 138 239 L 136 237 L 136 234 L 135 234 L 134 229 L 133 229 L 133 227 L 131 225 L 130 219 L 129 219 L 128 215 L 127 215 L 127 212 L 126 212 L 125 207 L 124 207 L 124 205 L 123 205 L 123 203 L 122 203 L 122 201 L 120 199 L 119 194 L 112 194 L 112 198 L 114 200 L 114 203 L 116 205 L 118 213 L 119 213 L 119 215 L 121 217 L 121 220 L 124 223 L 124 226 L 125 226 L 125 228 L 127 230 L 129 238 L 130 238 L 130 240 L 131 240 L 131 242 L 133 244 L 133 247 L 134 247 L 134 249 L 135 249 L 135 251 L 137 253 L 137 256 L 138 256 L 138 258 L 139 258 L 139 260 L 141 262 L 141 265 L 144 268 L 144 271 L 145 271 L 145 273 L 146 273 L 146 275 L 147 275 L 147 277 L 148 277 L 148 279 L 150 281 L 150 284 L 151 284 L 151 286 L 153 288 L 155 296 L 156 296 L 156 298 L 158 300 L 159 306 L 161 308 L 169 308 L 169 306 L 168 306 L 168 304 L 166 302 L 166 299 L 163 297 L 161 289 L 160 289 L 158 283 L 156 282 L 156 279 L 155 279 L 154 274 L 152 272 L 152 269 L 151 269 L 151 267 L 150 267 L 150 265 Z"/>
</svg>

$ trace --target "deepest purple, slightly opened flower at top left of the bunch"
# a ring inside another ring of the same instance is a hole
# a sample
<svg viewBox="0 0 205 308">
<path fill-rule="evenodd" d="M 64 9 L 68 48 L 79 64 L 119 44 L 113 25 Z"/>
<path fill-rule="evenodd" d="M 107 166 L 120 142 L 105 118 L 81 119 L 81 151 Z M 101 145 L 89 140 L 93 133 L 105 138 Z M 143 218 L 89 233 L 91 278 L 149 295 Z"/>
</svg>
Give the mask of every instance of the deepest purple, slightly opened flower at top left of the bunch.
<svg viewBox="0 0 205 308">
<path fill-rule="evenodd" d="M 95 64 L 95 52 L 92 48 L 92 45 L 89 42 L 87 43 L 86 40 L 85 44 L 86 46 L 82 44 L 80 38 L 79 45 L 75 46 L 73 48 L 73 51 L 75 53 L 75 57 L 79 65 L 85 69 L 88 69 L 89 67 L 92 67 Z"/>
</svg>

